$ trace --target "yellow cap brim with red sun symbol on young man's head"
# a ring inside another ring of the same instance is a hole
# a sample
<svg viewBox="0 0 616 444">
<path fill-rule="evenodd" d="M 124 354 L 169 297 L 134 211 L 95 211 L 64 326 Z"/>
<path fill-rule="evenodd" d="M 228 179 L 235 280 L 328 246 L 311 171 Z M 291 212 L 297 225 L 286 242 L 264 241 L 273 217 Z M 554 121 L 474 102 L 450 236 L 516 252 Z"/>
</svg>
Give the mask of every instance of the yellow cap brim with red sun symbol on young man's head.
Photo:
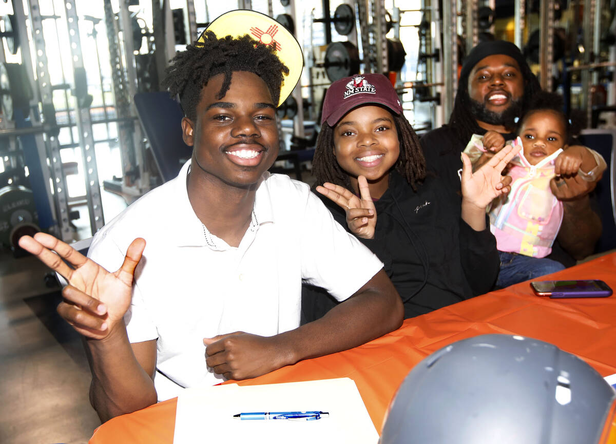
<svg viewBox="0 0 616 444">
<path fill-rule="evenodd" d="M 299 42 L 285 26 L 269 15 L 261 14 L 261 12 L 235 9 L 220 15 L 209 23 L 197 39 L 198 42 L 205 42 L 204 34 L 206 31 L 212 31 L 219 39 L 225 38 L 225 36 L 238 38 L 248 34 L 258 42 L 272 45 L 280 62 L 289 68 L 288 75 L 283 75 L 277 106 L 280 107 L 286 98 L 291 95 L 293 88 L 298 84 L 299 76 L 301 76 L 304 56 Z"/>
</svg>

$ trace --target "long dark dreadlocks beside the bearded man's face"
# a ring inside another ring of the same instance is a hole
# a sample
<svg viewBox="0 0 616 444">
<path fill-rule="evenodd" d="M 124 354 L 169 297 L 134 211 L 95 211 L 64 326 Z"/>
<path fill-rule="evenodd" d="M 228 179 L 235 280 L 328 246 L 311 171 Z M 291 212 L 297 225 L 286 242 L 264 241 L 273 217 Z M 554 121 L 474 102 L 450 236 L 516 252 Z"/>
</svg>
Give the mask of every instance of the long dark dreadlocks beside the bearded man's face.
<svg viewBox="0 0 616 444">
<path fill-rule="evenodd" d="M 528 63 L 518 63 L 522 78 L 524 78 L 524 94 L 522 95 L 521 115 L 527 111 L 532 97 L 541 91 L 541 85 L 537 77 L 532 73 Z M 472 71 L 472 70 L 469 70 Z M 471 107 L 471 96 L 468 94 L 468 75 L 460 77 L 458 81 L 458 92 L 453 101 L 452 115 L 448 125 L 453 128 L 456 136 L 460 140 L 470 140 L 473 134 L 482 134 L 482 129 L 477 124 L 475 117 L 469 112 Z"/>
</svg>

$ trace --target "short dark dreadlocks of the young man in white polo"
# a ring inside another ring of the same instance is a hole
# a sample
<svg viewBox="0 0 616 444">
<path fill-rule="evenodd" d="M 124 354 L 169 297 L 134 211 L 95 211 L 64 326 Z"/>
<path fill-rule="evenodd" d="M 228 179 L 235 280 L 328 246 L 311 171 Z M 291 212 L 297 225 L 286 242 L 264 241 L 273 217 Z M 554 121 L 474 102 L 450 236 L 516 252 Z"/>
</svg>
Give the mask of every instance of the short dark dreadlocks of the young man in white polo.
<svg viewBox="0 0 616 444">
<path fill-rule="evenodd" d="M 217 38 L 212 31 L 205 31 L 203 42 L 193 42 L 186 50 L 178 51 L 166 68 L 164 89 L 172 97 L 179 95 L 184 115 L 195 120 L 201 90 L 209 79 L 223 73 L 221 91 L 216 98 L 222 99 L 229 91 L 231 75 L 235 71 L 248 71 L 259 76 L 272 94 L 274 105 L 280 99 L 280 87 L 287 68 L 274 52 L 274 47 L 255 41 L 248 34 L 238 38 Z"/>
</svg>

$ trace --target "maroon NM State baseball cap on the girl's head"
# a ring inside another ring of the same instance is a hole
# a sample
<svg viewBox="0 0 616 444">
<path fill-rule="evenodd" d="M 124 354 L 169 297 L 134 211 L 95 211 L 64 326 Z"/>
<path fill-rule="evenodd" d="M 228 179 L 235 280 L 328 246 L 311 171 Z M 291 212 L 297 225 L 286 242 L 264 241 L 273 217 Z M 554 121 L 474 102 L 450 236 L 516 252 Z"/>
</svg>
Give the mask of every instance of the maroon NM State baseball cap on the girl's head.
<svg viewBox="0 0 616 444">
<path fill-rule="evenodd" d="M 359 105 L 378 103 L 394 114 L 402 114 L 402 104 L 389 79 L 382 74 L 357 74 L 336 80 L 323 101 L 321 124 L 334 126 L 346 113 Z"/>
</svg>

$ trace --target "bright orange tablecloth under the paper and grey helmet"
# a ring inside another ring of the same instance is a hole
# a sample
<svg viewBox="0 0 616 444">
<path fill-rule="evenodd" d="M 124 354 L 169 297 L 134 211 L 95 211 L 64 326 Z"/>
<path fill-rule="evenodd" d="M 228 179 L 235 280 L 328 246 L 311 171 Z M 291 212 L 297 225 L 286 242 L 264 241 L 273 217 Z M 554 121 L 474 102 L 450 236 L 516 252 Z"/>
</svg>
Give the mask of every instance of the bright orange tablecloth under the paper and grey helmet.
<svg viewBox="0 0 616 444">
<path fill-rule="evenodd" d="M 616 290 L 616 253 L 549 278 L 601 279 Z M 585 360 L 601 376 L 616 373 L 616 295 L 549 299 L 534 296 L 526 282 L 405 320 L 396 331 L 355 349 L 301 361 L 240 384 L 350 377 L 380 431 L 395 390 L 416 363 L 451 342 L 485 333 L 551 342 Z M 174 398 L 111 419 L 95 431 L 90 443 L 171 444 L 176 403 Z M 609 443 L 616 443 L 616 419 Z"/>
</svg>

